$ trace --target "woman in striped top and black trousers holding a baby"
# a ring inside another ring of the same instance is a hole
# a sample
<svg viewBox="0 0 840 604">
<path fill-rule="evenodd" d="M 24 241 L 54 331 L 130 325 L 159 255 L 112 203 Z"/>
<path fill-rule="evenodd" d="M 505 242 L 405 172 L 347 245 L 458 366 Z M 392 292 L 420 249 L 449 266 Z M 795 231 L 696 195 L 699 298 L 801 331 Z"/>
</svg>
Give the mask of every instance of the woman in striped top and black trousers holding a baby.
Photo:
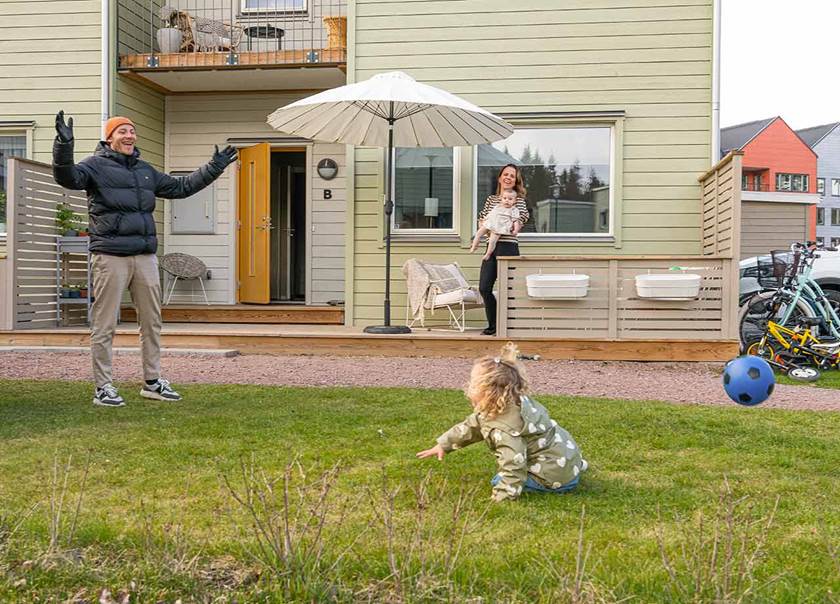
<svg viewBox="0 0 840 604">
<path fill-rule="evenodd" d="M 516 195 L 514 204 L 503 201 L 503 197 L 511 197 L 513 192 Z M 506 207 L 511 206 L 512 207 Z M 495 247 L 489 246 L 487 255 L 481 262 L 481 275 L 478 280 L 478 291 L 484 299 L 484 312 L 487 314 L 487 329 L 482 331 L 484 335 L 496 335 L 496 297 L 493 295 L 493 286 L 497 278 L 497 256 L 518 256 L 519 255 L 519 232 L 525 223 L 528 222 L 528 208 L 525 205 L 525 185 L 522 182 L 522 173 L 514 164 L 507 164 L 499 171 L 496 179 L 496 193 L 489 195 L 484 202 L 484 208 L 478 214 L 479 233 L 476 239 L 487 232 L 490 241 Z M 484 229 L 487 229 L 486 231 Z M 474 242 L 473 249 L 477 247 Z"/>
</svg>

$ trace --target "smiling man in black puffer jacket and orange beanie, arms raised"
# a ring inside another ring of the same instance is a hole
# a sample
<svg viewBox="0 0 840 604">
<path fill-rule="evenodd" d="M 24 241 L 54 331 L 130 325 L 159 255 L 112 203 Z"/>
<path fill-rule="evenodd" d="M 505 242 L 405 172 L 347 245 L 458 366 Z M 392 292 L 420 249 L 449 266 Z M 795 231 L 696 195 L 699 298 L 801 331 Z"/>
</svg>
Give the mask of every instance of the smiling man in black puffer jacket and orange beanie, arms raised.
<svg viewBox="0 0 840 604">
<path fill-rule="evenodd" d="M 181 199 L 210 185 L 236 160 L 236 150 L 216 147 L 213 158 L 190 174 L 175 178 L 140 159 L 134 124 L 113 117 L 105 124 L 105 140 L 94 154 L 73 161 L 73 118 L 55 118 L 53 176 L 68 189 L 84 190 L 90 216 L 93 277 L 90 348 L 96 391 L 93 402 L 107 407 L 125 404 L 111 379 L 111 349 L 120 301 L 127 287 L 137 308 L 143 378 L 140 394 L 177 401 L 181 396 L 160 375 L 160 276 L 158 273 L 155 199 Z"/>
</svg>

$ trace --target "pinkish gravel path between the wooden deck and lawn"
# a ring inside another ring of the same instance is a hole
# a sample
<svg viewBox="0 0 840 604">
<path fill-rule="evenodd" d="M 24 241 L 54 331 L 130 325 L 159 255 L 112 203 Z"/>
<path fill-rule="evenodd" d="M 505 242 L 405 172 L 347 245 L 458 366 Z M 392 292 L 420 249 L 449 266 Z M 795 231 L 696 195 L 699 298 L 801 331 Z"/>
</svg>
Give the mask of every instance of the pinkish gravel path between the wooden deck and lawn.
<svg viewBox="0 0 840 604">
<path fill-rule="evenodd" d="M 466 359 L 401 357 L 308 357 L 247 355 L 164 356 L 164 375 L 186 383 L 285 386 L 408 386 L 461 388 L 469 375 Z M 527 362 L 535 393 L 674 403 L 733 405 L 720 383 L 718 363 L 632 363 L 604 361 Z M 140 379 L 137 355 L 114 357 L 114 379 Z M 0 353 L 0 378 L 91 380 L 82 353 Z M 840 392 L 777 385 L 762 407 L 840 411 Z"/>
</svg>

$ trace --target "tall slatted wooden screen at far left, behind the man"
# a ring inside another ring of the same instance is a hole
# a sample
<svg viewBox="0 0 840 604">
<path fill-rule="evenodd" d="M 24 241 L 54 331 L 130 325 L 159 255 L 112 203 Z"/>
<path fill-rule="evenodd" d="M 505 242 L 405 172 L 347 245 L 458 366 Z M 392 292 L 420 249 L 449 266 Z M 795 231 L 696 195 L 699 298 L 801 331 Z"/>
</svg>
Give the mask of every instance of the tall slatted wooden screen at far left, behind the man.
<svg viewBox="0 0 840 604">
<path fill-rule="evenodd" d="M 84 192 L 68 191 L 53 180 L 52 167 L 25 159 L 9 160 L 8 261 L 14 329 L 54 327 L 58 321 L 55 208 L 67 204 L 87 224 Z M 68 256 L 67 282 L 86 281 L 84 256 Z M 64 311 L 66 319 L 83 319 L 84 306 Z"/>
</svg>

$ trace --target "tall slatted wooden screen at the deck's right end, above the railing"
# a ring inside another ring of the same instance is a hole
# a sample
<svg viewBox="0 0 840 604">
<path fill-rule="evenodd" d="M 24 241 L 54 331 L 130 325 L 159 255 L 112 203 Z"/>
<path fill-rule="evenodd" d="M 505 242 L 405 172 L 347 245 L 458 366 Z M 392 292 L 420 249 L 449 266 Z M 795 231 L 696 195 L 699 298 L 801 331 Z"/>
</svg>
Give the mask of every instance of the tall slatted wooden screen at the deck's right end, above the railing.
<svg viewBox="0 0 840 604">
<path fill-rule="evenodd" d="M 739 257 L 742 158 L 732 152 L 700 177 L 704 256 Z"/>
</svg>

